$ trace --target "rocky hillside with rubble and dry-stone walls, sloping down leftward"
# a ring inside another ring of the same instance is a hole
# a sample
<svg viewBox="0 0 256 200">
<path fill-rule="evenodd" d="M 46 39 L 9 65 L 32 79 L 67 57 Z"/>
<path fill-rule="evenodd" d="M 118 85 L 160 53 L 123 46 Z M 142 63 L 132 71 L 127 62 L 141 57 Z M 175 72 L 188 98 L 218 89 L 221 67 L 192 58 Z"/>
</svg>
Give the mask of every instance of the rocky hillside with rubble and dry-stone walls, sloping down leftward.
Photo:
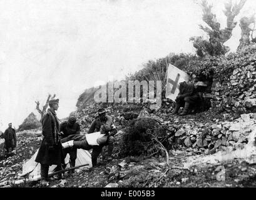
<svg viewBox="0 0 256 200">
<path fill-rule="evenodd" d="M 49 187 L 255 187 L 255 53 L 256 46 L 248 46 L 186 63 L 187 73 L 212 84 L 212 108 L 201 113 L 172 115 L 173 103 L 166 99 L 157 111 L 148 104 L 96 104 L 94 90 L 85 91 L 72 114 L 85 134 L 98 109 L 106 109 L 118 129 L 113 160 L 106 161 L 104 148 L 99 167 L 78 169 Z M 14 181 L 34 152 L 28 146 L 38 148 L 40 139 L 26 131 L 18 136 L 16 155 L 1 156 L 0 185 L 39 187 L 38 181 Z"/>
</svg>

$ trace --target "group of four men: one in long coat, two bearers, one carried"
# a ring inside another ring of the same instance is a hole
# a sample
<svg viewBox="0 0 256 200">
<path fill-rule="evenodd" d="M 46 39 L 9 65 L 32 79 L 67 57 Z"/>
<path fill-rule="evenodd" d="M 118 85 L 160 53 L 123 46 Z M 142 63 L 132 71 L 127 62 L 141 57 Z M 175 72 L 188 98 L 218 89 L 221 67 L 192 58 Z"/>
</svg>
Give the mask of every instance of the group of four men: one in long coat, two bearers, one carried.
<svg viewBox="0 0 256 200">
<path fill-rule="evenodd" d="M 58 110 L 59 99 L 49 101 L 49 109 L 44 113 L 42 123 L 43 141 L 38 150 L 35 161 L 41 164 L 41 184 L 47 185 L 51 178 L 48 177 L 49 166 L 56 165 L 56 171 L 65 168 L 64 159 L 69 154 L 71 168 L 75 166 L 77 149 L 92 149 L 91 163 L 93 168 L 98 166 L 97 158 L 103 146 L 108 146 L 108 160 L 112 159 L 113 135 L 117 132 L 110 116 L 106 115 L 105 109 L 99 109 L 98 115 L 91 124 L 88 134 L 100 132 L 101 138 L 97 139 L 96 145 L 91 145 L 84 134 L 80 134 L 80 126 L 74 116 L 69 116 L 67 121 L 59 123 L 55 111 Z M 74 173 L 74 170 L 71 171 Z M 62 175 L 58 174 L 57 179 Z"/>
</svg>

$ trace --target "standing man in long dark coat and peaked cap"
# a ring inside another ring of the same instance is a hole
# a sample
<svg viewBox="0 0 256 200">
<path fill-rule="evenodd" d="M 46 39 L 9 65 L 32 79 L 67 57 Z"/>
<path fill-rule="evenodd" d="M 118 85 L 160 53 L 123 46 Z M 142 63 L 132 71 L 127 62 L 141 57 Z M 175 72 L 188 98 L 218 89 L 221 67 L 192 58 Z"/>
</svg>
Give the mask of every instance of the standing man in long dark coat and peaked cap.
<svg viewBox="0 0 256 200">
<path fill-rule="evenodd" d="M 64 163 L 63 150 L 59 139 L 59 119 L 55 111 L 59 108 L 59 99 L 49 101 L 49 109 L 44 113 L 42 123 L 43 141 L 36 156 L 36 162 L 41 164 L 41 185 L 47 186 L 49 183 L 48 171 L 52 164 L 57 165 L 57 171 L 61 170 Z M 61 175 L 58 176 L 61 178 Z"/>
</svg>

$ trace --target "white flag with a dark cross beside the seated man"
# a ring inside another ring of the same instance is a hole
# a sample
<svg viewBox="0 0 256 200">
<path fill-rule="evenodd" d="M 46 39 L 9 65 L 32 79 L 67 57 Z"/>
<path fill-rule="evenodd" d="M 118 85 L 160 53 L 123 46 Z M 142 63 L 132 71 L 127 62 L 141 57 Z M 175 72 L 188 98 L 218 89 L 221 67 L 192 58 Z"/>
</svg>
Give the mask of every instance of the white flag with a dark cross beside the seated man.
<svg viewBox="0 0 256 200">
<path fill-rule="evenodd" d="M 178 96 L 178 93 L 180 93 L 180 83 L 184 81 L 188 82 L 188 79 L 189 76 L 187 73 L 176 68 L 172 64 L 169 64 L 166 78 L 165 98 L 172 99 L 173 101 L 175 101 L 175 99 Z"/>
</svg>

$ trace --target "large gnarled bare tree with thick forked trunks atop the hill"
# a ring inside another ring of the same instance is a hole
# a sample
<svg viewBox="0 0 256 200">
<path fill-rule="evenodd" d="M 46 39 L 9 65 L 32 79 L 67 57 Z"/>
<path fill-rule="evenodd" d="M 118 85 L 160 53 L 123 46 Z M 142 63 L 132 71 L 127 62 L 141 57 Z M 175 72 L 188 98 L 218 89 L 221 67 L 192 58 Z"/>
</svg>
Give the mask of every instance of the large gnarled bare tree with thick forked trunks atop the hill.
<svg viewBox="0 0 256 200">
<path fill-rule="evenodd" d="M 232 36 L 232 31 L 237 22 L 234 21 L 240 10 L 243 8 L 247 0 L 240 0 L 237 4 L 232 4 L 232 1 L 228 1 L 225 4 L 224 14 L 227 16 L 227 27 L 220 29 L 220 23 L 217 22 L 216 15 L 212 13 L 213 5 L 208 5 L 206 0 L 202 0 L 200 6 L 203 10 L 203 21 L 208 24 L 209 27 L 203 27 L 199 25 L 200 29 L 207 32 L 209 39 L 203 39 L 202 36 L 190 37 L 190 41 L 193 41 L 193 46 L 197 49 L 197 55 L 204 56 L 219 56 L 227 53 L 230 48 L 224 46 L 223 43 L 227 42 Z"/>
</svg>

